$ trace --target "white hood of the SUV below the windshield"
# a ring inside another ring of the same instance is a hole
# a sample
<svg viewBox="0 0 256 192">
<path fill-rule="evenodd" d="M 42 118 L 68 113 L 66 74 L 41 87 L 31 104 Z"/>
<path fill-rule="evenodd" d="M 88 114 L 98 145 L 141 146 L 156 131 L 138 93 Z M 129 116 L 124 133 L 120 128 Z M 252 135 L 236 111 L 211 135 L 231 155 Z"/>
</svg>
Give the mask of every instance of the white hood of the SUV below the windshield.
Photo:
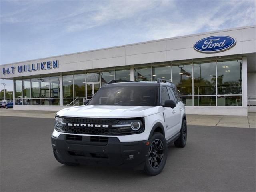
<svg viewBox="0 0 256 192">
<path fill-rule="evenodd" d="M 65 108 L 57 112 L 66 117 L 130 118 L 145 117 L 160 112 L 160 106 L 84 105 Z"/>
</svg>

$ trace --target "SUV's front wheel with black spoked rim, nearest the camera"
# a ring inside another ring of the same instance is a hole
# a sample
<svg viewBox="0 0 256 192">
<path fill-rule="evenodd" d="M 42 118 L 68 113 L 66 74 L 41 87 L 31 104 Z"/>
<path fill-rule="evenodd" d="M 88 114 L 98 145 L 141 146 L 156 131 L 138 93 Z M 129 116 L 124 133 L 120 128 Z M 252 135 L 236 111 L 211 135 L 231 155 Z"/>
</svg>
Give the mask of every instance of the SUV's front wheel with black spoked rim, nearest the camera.
<svg viewBox="0 0 256 192">
<path fill-rule="evenodd" d="M 168 148 L 166 139 L 161 133 L 155 132 L 150 139 L 148 156 L 144 166 L 144 172 L 150 176 L 159 174 L 167 160 Z"/>
</svg>

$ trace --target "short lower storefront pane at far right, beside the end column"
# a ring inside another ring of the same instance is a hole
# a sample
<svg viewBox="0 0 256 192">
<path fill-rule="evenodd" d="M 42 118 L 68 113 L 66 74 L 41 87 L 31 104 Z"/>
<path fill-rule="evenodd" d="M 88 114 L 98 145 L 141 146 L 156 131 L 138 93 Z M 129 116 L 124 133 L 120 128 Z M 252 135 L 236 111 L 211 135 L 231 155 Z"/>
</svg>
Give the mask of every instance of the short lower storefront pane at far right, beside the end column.
<svg viewBox="0 0 256 192">
<path fill-rule="evenodd" d="M 218 96 L 217 106 L 242 106 L 242 96 Z"/>
</svg>

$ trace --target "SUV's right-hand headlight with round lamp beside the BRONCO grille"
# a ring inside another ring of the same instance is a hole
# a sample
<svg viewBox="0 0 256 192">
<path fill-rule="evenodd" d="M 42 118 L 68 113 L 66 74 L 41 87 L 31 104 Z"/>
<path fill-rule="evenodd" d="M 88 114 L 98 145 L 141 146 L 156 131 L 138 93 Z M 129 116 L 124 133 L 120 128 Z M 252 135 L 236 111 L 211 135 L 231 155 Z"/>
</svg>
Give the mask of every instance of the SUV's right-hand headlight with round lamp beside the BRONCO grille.
<svg viewBox="0 0 256 192">
<path fill-rule="evenodd" d="M 118 128 L 118 130 L 122 133 L 138 133 L 143 131 L 143 123 L 141 120 L 121 120 L 116 125 L 112 125 L 112 127 Z"/>
</svg>

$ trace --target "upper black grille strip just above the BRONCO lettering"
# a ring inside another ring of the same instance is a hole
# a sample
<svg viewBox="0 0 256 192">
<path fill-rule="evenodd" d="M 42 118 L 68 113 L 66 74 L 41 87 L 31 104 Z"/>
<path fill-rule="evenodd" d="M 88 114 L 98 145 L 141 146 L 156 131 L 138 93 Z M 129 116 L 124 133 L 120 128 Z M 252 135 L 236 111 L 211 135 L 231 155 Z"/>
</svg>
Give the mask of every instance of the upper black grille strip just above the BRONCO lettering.
<svg viewBox="0 0 256 192">
<path fill-rule="evenodd" d="M 77 118 L 77 117 L 64 117 L 66 123 L 84 123 L 84 124 L 117 124 L 118 119 L 107 118 Z"/>
</svg>

